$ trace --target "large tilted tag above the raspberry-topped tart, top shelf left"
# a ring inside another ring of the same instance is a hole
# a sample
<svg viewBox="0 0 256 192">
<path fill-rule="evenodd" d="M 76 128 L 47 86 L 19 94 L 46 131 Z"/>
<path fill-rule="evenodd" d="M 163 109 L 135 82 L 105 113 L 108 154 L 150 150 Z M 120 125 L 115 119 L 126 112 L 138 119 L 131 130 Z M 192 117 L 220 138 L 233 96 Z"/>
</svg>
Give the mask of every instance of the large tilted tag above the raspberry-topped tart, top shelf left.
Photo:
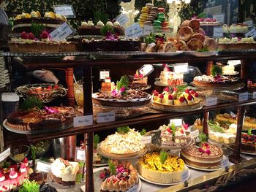
<svg viewBox="0 0 256 192">
<path fill-rule="evenodd" d="M 56 28 L 53 32 L 50 33 L 50 37 L 53 38 L 54 41 L 60 42 L 64 40 L 69 34 L 72 34 L 72 29 L 69 27 L 67 23 L 61 24 L 58 28 Z"/>
</svg>

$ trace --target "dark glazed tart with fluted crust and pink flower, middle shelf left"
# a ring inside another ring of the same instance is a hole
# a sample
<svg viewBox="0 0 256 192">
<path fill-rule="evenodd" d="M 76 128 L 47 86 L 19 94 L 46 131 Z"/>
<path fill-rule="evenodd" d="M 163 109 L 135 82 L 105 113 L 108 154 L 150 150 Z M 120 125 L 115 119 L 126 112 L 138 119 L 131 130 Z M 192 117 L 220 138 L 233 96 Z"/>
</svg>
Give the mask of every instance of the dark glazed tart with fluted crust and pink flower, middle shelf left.
<svg viewBox="0 0 256 192">
<path fill-rule="evenodd" d="M 73 107 L 45 107 L 44 110 L 13 112 L 7 117 L 7 126 L 20 131 L 54 130 L 70 125 L 75 116 Z"/>
</svg>

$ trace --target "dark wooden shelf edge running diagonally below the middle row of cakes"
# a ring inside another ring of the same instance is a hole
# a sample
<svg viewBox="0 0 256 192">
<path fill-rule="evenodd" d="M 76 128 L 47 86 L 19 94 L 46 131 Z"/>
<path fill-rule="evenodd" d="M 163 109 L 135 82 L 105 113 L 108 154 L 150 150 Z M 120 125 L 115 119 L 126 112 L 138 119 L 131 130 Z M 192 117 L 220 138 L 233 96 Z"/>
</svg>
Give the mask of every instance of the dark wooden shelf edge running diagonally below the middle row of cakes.
<svg viewBox="0 0 256 192">
<path fill-rule="evenodd" d="M 192 111 L 192 112 L 161 112 L 159 114 L 144 115 L 144 116 L 139 116 L 137 118 L 128 118 L 126 120 L 116 120 L 111 123 L 98 123 L 98 124 L 94 123 L 93 126 L 81 126 L 78 128 L 68 128 L 68 129 L 65 129 L 64 131 L 59 131 L 58 133 L 27 135 L 27 139 L 30 142 L 33 142 L 33 141 L 40 141 L 42 139 L 55 139 L 59 137 L 68 137 L 76 134 L 86 134 L 88 132 L 108 130 L 110 128 L 117 128 L 118 126 L 142 124 L 146 122 L 154 122 L 155 120 L 165 120 L 167 118 L 184 117 L 187 115 L 193 115 L 193 114 L 202 113 L 202 112 L 222 110 L 229 107 L 241 107 L 241 106 L 250 105 L 250 104 L 256 104 L 256 99 L 251 99 L 251 100 L 242 101 L 242 102 L 236 101 L 228 104 L 218 104 L 216 106 L 211 106 L 211 107 L 203 107 L 201 110 Z"/>
</svg>

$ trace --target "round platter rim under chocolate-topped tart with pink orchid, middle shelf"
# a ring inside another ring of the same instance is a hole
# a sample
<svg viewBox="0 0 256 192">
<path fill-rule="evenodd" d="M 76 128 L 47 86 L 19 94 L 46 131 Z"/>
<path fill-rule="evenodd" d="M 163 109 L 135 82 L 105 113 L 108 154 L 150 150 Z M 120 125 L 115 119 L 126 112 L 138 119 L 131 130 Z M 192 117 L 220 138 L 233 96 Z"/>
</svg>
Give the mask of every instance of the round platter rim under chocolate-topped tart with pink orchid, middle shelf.
<svg viewBox="0 0 256 192">
<path fill-rule="evenodd" d="M 118 100 L 118 99 L 102 99 L 98 98 L 96 93 L 92 94 L 92 102 L 94 104 L 99 104 L 102 106 L 109 107 L 138 107 L 143 106 L 151 101 L 151 95 L 145 93 L 147 96 L 141 99 L 131 99 L 131 100 Z"/>
</svg>

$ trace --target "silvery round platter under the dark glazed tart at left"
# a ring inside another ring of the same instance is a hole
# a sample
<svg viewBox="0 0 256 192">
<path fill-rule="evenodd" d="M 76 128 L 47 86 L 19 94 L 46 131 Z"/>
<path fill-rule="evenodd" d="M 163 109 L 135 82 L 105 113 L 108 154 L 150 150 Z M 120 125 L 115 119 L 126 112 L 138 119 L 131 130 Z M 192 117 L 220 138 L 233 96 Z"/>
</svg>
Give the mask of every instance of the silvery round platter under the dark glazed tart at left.
<svg viewBox="0 0 256 192">
<path fill-rule="evenodd" d="M 22 131 L 18 130 L 15 128 L 11 128 L 10 126 L 7 125 L 7 119 L 4 120 L 3 126 L 8 130 L 12 131 L 13 133 L 16 134 L 47 134 L 47 133 L 52 133 L 52 132 L 57 132 L 57 131 L 62 131 L 67 128 L 71 128 L 73 126 L 73 123 L 69 125 L 65 125 L 64 123 L 59 126 L 59 128 L 49 128 L 49 129 L 43 129 L 43 130 L 37 130 L 37 131 Z"/>
</svg>

